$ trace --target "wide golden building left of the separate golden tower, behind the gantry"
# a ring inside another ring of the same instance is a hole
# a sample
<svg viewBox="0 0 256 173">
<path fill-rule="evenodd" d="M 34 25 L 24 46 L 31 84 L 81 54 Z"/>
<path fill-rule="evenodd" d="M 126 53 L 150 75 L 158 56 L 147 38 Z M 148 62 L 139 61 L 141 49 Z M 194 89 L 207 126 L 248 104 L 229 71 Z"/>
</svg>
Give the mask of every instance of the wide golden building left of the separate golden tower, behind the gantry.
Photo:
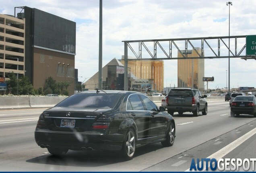
<svg viewBox="0 0 256 173">
<path fill-rule="evenodd" d="M 124 64 L 124 60 L 121 60 Z M 158 92 L 163 91 L 164 85 L 164 64 L 163 60 L 129 60 L 128 68 L 138 79 L 153 81 L 153 88 Z M 156 88 L 155 88 L 156 87 Z"/>
</svg>

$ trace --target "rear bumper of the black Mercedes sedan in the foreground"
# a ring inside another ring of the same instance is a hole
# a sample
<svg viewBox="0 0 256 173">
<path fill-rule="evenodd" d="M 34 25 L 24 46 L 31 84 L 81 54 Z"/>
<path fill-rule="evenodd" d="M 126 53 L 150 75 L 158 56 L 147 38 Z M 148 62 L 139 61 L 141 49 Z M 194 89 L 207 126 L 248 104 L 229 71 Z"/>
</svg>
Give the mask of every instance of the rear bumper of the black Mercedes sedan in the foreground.
<svg viewBox="0 0 256 173">
<path fill-rule="evenodd" d="M 120 151 L 124 135 L 84 135 L 77 133 L 45 133 L 35 131 L 35 141 L 39 146 L 62 147 L 71 150 Z"/>
</svg>

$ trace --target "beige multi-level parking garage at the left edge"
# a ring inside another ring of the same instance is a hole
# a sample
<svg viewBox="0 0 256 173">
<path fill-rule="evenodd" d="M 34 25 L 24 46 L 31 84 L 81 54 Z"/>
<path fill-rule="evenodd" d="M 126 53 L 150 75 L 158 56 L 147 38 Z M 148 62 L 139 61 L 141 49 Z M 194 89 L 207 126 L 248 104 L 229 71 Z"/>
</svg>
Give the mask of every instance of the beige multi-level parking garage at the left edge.
<svg viewBox="0 0 256 173">
<path fill-rule="evenodd" d="M 25 20 L 0 14 L 0 91 L 5 93 L 5 79 L 25 74 Z"/>
</svg>

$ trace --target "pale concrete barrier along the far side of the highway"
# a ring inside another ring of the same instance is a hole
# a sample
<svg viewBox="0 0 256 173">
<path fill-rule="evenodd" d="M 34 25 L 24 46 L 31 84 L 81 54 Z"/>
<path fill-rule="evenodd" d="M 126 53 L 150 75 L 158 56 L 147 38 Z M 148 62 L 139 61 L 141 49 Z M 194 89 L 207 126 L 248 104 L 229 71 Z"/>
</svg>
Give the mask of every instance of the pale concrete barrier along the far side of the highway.
<svg viewBox="0 0 256 173">
<path fill-rule="evenodd" d="M 67 97 L 0 97 L 0 109 L 54 107 Z M 153 102 L 161 102 L 164 96 L 149 96 Z M 207 100 L 225 99 L 225 96 L 209 96 Z"/>
</svg>

